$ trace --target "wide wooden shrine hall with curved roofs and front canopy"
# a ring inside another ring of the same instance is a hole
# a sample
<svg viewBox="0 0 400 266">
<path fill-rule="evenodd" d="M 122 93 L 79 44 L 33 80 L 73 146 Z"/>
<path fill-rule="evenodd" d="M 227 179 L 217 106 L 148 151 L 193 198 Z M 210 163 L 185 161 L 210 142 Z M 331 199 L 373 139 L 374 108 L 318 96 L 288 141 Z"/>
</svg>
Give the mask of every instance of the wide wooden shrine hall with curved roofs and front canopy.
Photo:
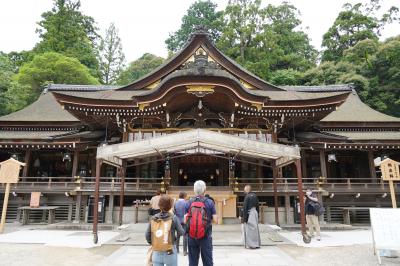
<svg viewBox="0 0 400 266">
<path fill-rule="evenodd" d="M 26 163 L 8 221 L 21 219 L 18 207 L 36 191 L 59 206 L 56 221 L 144 222 L 156 190 L 175 197 L 202 179 L 221 223 L 236 219 L 246 184 L 264 222 L 300 222 L 299 193 L 311 188 L 326 222 L 342 223 L 343 208 L 354 208 L 350 222 L 365 223 L 362 207 L 390 206 L 375 165 L 399 161 L 399 150 L 400 118 L 368 107 L 351 84 L 275 86 L 203 31 L 132 84 L 50 84 L 0 117 L 0 161 Z"/>
</svg>

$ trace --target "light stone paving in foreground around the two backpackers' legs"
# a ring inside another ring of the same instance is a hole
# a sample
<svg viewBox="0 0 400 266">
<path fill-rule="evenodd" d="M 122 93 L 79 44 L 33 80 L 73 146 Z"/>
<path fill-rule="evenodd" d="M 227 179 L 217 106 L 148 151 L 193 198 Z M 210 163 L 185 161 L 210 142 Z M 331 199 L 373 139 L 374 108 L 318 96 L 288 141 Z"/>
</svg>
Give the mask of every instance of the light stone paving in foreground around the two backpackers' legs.
<svg viewBox="0 0 400 266">
<path fill-rule="evenodd" d="M 143 266 L 146 265 L 146 253 L 147 247 L 123 246 L 105 258 L 100 266 Z M 187 266 L 188 258 L 179 254 L 178 265 Z M 243 247 L 214 247 L 214 265 L 296 266 L 298 264 L 279 247 L 262 247 L 256 250 Z"/>
</svg>

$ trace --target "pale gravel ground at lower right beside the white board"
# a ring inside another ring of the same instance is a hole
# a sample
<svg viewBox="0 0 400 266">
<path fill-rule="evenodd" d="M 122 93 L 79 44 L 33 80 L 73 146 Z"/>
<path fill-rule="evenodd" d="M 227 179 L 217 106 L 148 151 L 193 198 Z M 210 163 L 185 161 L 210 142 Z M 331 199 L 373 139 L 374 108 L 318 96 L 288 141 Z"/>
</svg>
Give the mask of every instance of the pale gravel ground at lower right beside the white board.
<svg viewBox="0 0 400 266">
<path fill-rule="evenodd" d="M 280 249 L 301 265 L 307 266 L 375 266 L 372 245 L 343 247 L 306 248 L 294 245 L 280 245 Z M 400 265 L 400 258 L 382 258 L 382 265 Z"/>
</svg>

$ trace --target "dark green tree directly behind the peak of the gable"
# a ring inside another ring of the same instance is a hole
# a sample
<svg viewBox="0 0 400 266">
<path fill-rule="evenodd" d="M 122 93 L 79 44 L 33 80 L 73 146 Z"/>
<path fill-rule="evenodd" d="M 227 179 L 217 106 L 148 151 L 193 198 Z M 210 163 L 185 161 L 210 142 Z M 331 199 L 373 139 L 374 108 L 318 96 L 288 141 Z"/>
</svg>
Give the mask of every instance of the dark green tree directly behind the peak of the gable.
<svg viewBox="0 0 400 266">
<path fill-rule="evenodd" d="M 165 41 L 169 51 L 177 52 L 186 44 L 190 35 L 199 26 L 204 26 L 211 34 L 212 40 L 217 40 L 221 34 L 221 14 L 216 11 L 217 4 L 210 0 L 198 0 L 187 10 L 187 14 L 182 18 L 179 30 L 171 33 Z"/>
</svg>

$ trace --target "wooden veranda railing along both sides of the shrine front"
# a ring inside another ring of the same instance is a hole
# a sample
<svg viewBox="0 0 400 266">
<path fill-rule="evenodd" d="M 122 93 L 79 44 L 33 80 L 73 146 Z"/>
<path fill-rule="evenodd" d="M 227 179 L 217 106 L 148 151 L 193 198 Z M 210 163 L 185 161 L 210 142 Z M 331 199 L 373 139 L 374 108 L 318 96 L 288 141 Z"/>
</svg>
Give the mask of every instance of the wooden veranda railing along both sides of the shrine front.
<svg viewBox="0 0 400 266">
<path fill-rule="evenodd" d="M 230 180 L 230 187 L 233 191 L 243 191 L 245 185 L 251 185 L 254 191 L 273 191 L 272 178 L 234 178 Z M 126 177 L 125 191 L 156 191 L 157 189 L 168 189 L 169 179 L 163 178 L 141 178 Z M 31 191 L 93 191 L 95 187 L 95 177 L 23 177 L 18 184 L 12 184 L 11 190 L 16 192 Z M 303 178 L 303 187 L 312 189 L 324 189 L 332 192 L 352 192 L 352 191 L 371 191 L 386 192 L 388 184 L 380 179 L 373 178 L 347 178 L 347 179 L 325 179 L 321 182 L 317 178 Z M 0 185 L 0 190 L 5 186 Z M 101 191 L 120 191 L 121 178 L 101 177 Z M 400 189 L 400 184 L 397 184 Z M 278 178 L 277 190 L 279 192 L 297 191 L 297 178 Z"/>
</svg>

